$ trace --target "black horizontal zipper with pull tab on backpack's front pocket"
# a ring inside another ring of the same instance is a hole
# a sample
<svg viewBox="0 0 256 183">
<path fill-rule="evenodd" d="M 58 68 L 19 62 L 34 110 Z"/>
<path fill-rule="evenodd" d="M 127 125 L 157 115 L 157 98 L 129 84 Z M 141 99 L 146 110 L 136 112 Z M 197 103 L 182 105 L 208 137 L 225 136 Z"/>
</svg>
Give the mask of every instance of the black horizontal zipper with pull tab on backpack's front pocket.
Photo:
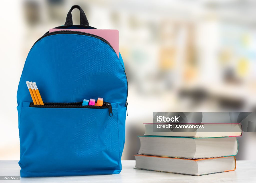
<svg viewBox="0 0 256 183">
<path fill-rule="evenodd" d="M 109 102 L 103 102 L 103 106 L 82 106 L 83 102 L 72 102 L 72 103 L 44 103 L 45 105 L 34 105 L 30 103 L 29 107 L 38 108 L 89 108 L 89 109 L 109 109 L 109 116 L 113 116 L 112 105 Z"/>
</svg>

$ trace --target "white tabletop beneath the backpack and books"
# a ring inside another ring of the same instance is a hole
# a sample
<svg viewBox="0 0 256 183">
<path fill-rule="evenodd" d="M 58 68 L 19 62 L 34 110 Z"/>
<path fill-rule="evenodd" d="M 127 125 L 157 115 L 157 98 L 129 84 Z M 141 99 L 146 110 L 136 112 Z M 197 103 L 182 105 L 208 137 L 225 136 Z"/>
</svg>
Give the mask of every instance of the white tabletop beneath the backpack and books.
<svg viewBox="0 0 256 183">
<path fill-rule="evenodd" d="M 120 174 L 115 175 L 87 175 L 87 176 L 65 176 L 65 177 L 21 177 L 20 180 L 0 180 L 0 182 L 139 182 L 139 183 L 150 183 L 150 182 L 179 182 L 179 183 L 190 183 L 190 182 L 256 182 L 256 161 L 237 161 L 237 169 L 235 171 L 202 175 L 202 176 L 191 176 L 173 173 L 164 173 L 147 170 L 137 170 L 134 160 L 122 161 L 123 169 Z M 2 160 L 0 161 L 0 175 L 3 176 L 17 176 L 20 175 L 20 167 L 17 160 Z"/>
</svg>

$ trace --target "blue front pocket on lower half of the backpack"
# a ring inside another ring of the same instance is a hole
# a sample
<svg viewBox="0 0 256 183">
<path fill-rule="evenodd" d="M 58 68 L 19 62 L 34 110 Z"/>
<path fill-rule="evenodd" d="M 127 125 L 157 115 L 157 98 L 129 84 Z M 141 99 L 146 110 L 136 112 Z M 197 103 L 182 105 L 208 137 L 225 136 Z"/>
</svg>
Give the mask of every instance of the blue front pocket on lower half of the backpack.
<svg viewBox="0 0 256 183">
<path fill-rule="evenodd" d="M 76 104 L 35 107 L 24 102 L 19 129 L 22 169 L 49 173 L 119 165 L 117 104 L 111 105 L 112 117 L 106 103 L 101 108 Z"/>
</svg>

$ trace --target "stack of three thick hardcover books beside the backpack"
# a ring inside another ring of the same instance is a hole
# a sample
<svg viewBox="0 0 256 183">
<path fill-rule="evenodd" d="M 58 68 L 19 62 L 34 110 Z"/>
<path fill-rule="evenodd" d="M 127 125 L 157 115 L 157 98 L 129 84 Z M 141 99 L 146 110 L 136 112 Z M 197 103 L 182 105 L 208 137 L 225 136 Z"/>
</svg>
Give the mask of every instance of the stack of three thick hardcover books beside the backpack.
<svg viewBox="0 0 256 183">
<path fill-rule="evenodd" d="M 228 124 L 209 125 L 221 129 Z M 236 169 L 241 124 L 236 124 L 235 132 L 154 132 L 153 124 L 145 126 L 144 136 L 138 136 L 140 151 L 134 155 L 136 169 L 196 176 Z"/>
</svg>

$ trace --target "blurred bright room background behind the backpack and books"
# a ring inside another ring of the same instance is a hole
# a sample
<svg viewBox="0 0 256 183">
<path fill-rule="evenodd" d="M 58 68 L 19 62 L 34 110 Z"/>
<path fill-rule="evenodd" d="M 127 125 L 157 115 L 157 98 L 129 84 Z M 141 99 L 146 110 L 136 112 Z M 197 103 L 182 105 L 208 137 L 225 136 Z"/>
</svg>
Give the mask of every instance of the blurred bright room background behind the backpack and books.
<svg viewBox="0 0 256 183">
<path fill-rule="evenodd" d="M 256 2 L 251 0 L 1 1 L 0 159 L 19 159 L 19 78 L 32 45 L 80 5 L 90 26 L 118 29 L 129 82 L 122 159 L 153 112 L 256 112 Z M 79 10 L 73 23 L 80 24 Z M 238 160 L 256 159 L 256 134 L 239 137 Z"/>
</svg>

